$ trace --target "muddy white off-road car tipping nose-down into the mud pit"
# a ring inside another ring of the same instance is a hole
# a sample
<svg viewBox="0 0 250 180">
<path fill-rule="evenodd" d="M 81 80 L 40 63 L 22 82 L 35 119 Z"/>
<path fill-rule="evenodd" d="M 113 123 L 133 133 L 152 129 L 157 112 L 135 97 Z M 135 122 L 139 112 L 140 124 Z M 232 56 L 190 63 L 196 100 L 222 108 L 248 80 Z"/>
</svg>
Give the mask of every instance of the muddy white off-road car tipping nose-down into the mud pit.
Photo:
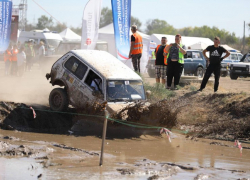
<svg viewBox="0 0 250 180">
<path fill-rule="evenodd" d="M 146 99 L 141 77 L 105 51 L 69 51 L 53 64 L 46 78 L 61 87 L 49 96 L 55 111 L 64 111 L 68 105 L 82 109 L 94 101 L 122 104 Z"/>
</svg>

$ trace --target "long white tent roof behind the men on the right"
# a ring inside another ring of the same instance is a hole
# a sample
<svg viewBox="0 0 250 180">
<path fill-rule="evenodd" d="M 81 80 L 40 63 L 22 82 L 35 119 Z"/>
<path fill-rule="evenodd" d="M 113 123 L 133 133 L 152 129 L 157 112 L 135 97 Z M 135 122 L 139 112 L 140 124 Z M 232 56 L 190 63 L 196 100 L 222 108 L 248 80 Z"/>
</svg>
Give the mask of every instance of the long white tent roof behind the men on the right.
<svg viewBox="0 0 250 180">
<path fill-rule="evenodd" d="M 166 34 L 152 34 L 150 39 L 156 44 L 161 44 L 161 38 L 167 37 L 168 44 L 175 42 L 175 35 L 166 35 Z M 191 45 L 196 43 L 206 44 L 207 46 L 213 45 L 214 42 L 209 38 L 202 38 L 202 37 L 188 37 L 188 36 L 181 36 L 183 45 L 188 48 Z"/>
</svg>

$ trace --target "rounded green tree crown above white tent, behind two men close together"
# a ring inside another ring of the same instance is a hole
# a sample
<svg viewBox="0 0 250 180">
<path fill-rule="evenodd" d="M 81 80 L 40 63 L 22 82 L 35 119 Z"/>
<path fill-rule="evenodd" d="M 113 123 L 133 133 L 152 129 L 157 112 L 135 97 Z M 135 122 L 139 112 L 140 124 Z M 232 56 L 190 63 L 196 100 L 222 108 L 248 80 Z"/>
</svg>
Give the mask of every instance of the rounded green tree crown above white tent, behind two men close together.
<svg viewBox="0 0 250 180">
<path fill-rule="evenodd" d="M 151 19 L 146 22 L 145 32 L 151 34 L 177 34 L 177 30 L 164 20 Z"/>
</svg>

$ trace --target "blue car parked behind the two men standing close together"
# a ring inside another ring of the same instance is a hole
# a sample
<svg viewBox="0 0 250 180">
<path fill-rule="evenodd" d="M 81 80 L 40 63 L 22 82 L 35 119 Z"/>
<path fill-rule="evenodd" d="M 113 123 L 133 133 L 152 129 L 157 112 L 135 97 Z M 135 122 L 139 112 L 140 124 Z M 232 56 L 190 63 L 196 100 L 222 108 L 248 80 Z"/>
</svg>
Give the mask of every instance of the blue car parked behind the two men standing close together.
<svg viewBox="0 0 250 180">
<path fill-rule="evenodd" d="M 148 75 L 155 77 L 155 59 L 149 60 L 146 68 Z M 202 52 L 198 50 L 187 50 L 187 53 L 184 55 L 184 73 L 203 77 L 205 69 L 206 59 Z"/>
</svg>

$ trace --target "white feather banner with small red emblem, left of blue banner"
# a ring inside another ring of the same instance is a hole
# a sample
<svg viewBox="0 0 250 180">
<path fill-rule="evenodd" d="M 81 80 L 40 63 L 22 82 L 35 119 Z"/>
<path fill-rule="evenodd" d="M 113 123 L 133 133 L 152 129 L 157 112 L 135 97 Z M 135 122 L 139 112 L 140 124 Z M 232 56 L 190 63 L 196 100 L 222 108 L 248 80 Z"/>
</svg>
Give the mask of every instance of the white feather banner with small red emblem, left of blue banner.
<svg viewBox="0 0 250 180">
<path fill-rule="evenodd" d="M 95 49 L 101 17 L 102 0 L 89 0 L 82 19 L 82 49 Z"/>
</svg>

